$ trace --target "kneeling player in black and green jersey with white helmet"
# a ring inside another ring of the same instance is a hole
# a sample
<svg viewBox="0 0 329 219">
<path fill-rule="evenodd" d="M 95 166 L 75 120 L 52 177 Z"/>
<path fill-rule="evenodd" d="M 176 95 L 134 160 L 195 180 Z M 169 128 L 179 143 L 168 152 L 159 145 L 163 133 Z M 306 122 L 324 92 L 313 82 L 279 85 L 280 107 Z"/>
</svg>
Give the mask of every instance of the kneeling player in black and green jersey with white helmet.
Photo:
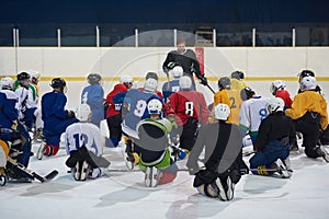
<svg viewBox="0 0 329 219">
<path fill-rule="evenodd" d="M 168 143 L 171 123 L 160 116 L 162 103 L 154 99 L 149 101 L 147 108 L 150 118 L 137 124 L 139 139 L 134 139 L 134 143 L 139 155 L 139 169 L 145 172 L 145 185 L 155 187 L 172 182 L 177 176 L 178 166 Z"/>
</svg>

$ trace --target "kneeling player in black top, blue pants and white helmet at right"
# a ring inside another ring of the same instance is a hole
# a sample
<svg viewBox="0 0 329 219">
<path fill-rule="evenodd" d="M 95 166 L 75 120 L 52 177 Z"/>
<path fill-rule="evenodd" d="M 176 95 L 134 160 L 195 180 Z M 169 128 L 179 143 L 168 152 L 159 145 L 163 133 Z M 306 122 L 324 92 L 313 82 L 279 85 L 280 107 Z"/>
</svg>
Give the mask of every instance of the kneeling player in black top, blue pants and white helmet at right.
<svg viewBox="0 0 329 219">
<path fill-rule="evenodd" d="M 261 122 L 254 142 L 258 152 L 249 161 L 253 174 L 284 178 L 292 175 L 288 155 L 290 145 L 295 141 L 295 128 L 283 110 L 284 102 L 281 97 L 269 99 L 269 116 Z"/>
</svg>

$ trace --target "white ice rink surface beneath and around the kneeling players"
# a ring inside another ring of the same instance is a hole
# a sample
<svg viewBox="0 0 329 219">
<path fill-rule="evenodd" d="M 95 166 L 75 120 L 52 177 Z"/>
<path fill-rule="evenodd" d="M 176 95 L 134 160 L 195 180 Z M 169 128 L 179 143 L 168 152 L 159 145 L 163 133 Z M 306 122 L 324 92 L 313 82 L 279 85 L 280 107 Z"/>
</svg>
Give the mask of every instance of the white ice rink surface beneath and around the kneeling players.
<svg viewBox="0 0 329 219">
<path fill-rule="evenodd" d="M 259 94 L 270 96 L 270 82 L 247 83 Z M 292 95 L 297 90 L 296 83 L 287 84 Z M 328 82 L 320 85 L 329 95 Z M 79 91 L 68 87 L 68 105 L 75 106 Z M 215 83 L 212 87 L 216 88 Z M 34 152 L 37 147 L 33 145 Z M 111 169 L 125 169 L 122 149 L 104 148 Z M 109 177 L 76 182 L 67 173 L 65 153 L 61 147 L 54 158 L 42 161 L 31 158 L 29 168 L 41 175 L 54 169 L 59 171 L 52 182 L 0 187 L 0 218 L 329 218 L 329 164 L 321 158 L 306 158 L 302 148 L 291 155 L 294 170 L 291 178 L 243 175 L 236 186 L 234 200 L 227 203 L 198 195 L 192 187 L 193 176 L 183 171 L 172 183 L 155 188 L 144 186 L 140 172 L 113 172 Z M 248 163 L 250 157 L 243 159 Z M 184 163 L 181 161 L 179 165 L 184 168 Z"/>
</svg>

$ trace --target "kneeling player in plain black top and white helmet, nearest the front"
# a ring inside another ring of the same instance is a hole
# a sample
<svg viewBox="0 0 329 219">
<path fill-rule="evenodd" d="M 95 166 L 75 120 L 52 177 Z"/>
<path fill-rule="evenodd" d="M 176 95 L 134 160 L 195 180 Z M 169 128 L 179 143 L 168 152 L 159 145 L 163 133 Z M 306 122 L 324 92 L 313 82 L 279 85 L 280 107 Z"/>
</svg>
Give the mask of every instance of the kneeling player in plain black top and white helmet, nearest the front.
<svg viewBox="0 0 329 219">
<path fill-rule="evenodd" d="M 242 135 L 235 124 L 226 123 L 230 110 L 227 104 L 215 106 L 215 123 L 200 128 L 196 142 L 186 163 L 190 174 L 194 174 L 193 187 L 198 193 L 220 200 L 234 198 L 235 185 L 240 181 L 239 153 Z M 204 165 L 197 162 L 205 148 Z"/>
</svg>

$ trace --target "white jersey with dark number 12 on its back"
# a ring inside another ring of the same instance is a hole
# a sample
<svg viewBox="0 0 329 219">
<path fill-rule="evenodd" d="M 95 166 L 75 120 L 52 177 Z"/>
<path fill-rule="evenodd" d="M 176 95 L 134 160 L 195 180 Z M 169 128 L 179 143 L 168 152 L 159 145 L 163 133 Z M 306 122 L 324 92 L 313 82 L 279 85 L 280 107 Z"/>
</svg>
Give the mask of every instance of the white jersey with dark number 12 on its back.
<svg viewBox="0 0 329 219">
<path fill-rule="evenodd" d="M 68 126 L 65 131 L 65 145 L 68 154 L 83 146 L 97 155 L 103 153 L 101 130 L 91 123 L 75 123 Z"/>
</svg>

